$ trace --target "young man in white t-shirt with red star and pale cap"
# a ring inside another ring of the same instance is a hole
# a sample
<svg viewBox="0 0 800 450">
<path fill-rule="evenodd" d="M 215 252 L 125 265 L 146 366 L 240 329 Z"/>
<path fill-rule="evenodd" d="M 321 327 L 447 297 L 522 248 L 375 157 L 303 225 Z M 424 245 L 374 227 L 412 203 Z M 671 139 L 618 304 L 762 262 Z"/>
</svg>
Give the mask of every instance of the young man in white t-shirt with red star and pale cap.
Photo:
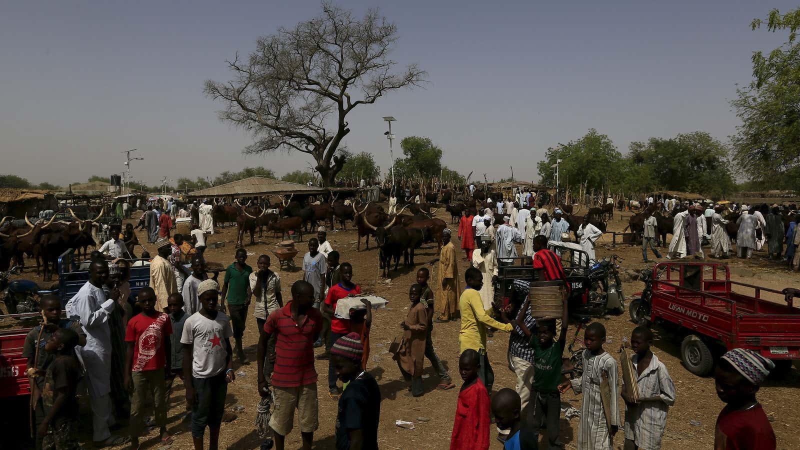
<svg viewBox="0 0 800 450">
<path fill-rule="evenodd" d="M 216 281 L 206 279 L 200 283 L 198 299 L 202 307 L 186 319 L 181 336 L 186 404 L 192 408 L 192 437 L 202 440 L 207 425 L 209 448 L 217 448 L 228 384 L 236 379 L 230 357 L 234 330 L 228 316 L 217 311 Z"/>
</svg>

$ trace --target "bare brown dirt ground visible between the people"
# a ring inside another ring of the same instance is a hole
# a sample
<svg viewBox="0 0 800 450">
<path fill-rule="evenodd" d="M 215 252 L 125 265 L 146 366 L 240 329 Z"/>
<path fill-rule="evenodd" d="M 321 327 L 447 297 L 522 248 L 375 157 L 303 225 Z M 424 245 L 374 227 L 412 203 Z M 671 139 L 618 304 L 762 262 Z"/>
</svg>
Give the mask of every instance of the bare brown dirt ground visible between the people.
<svg viewBox="0 0 800 450">
<path fill-rule="evenodd" d="M 449 215 L 441 211 L 438 213 L 440 219 L 449 222 Z M 609 231 L 622 231 L 626 226 L 627 216 L 630 213 L 621 215 L 614 213 L 614 219 L 609 223 Z M 455 228 L 456 226 L 451 226 Z M 219 229 L 218 232 L 210 237 L 209 242 L 225 242 L 225 247 L 209 249 L 206 251 L 208 261 L 230 264 L 234 260 L 236 231 L 234 227 Z M 455 233 L 454 233 L 455 235 Z M 257 234 L 258 236 L 258 234 Z M 306 248 L 306 240 L 311 235 L 304 236 L 304 241 L 298 243 L 301 252 L 295 257 L 295 261 L 300 264 L 302 255 Z M 378 440 L 381 448 L 434 448 L 446 449 L 450 445 L 450 433 L 453 427 L 454 412 L 458 397 L 458 388 L 449 391 L 437 391 L 438 377 L 426 363 L 426 373 L 430 376 L 425 381 L 425 396 L 420 398 L 409 398 L 403 396 L 407 385 L 402 380 L 397 364 L 391 360 L 387 350 L 389 343 L 395 336 L 401 334 L 398 324 L 405 319 L 408 310 L 408 286 L 414 283 L 414 269 L 400 267 L 398 272 L 391 273 L 391 279 L 383 280 L 378 270 L 377 251 L 374 249 L 374 240 L 370 239 L 370 250 L 356 251 L 356 232 L 348 223 L 347 231 L 333 231 L 328 233 L 328 238 L 335 250 L 342 255 L 342 262 L 350 262 L 354 267 L 354 282 L 362 287 L 363 293 L 382 296 L 389 300 L 386 309 L 374 311 L 371 338 L 372 343 L 369 372 L 378 380 L 382 392 L 381 405 L 381 428 L 378 431 Z M 139 232 L 139 239 L 146 241 L 142 232 Z M 279 239 L 274 239 L 272 235 L 265 235 L 258 239 L 253 246 L 246 246 L 248 260 L 251 266 L 255 266 L 258 255 L 264 253 L 273 259 L 273 269 L 278 271 L 278 262 L 270 249 Z M 598 258 L 616 254 L 622 256 L 622 271 L 626 269 L 639 270 L 646 267 L 642 263 L 641 247 L 631 247 L 627 244 L 618 244 L 611 247 L 611 235 L 606 234 L 598 242 Z M 246 242 L 249 242 L 246 240 Z M 454 239 L 456 246 L 459 246 L 458 239 Z M 148 246 L 151 254 L 155 254 L 154 249 Z M 426 245 L 417 252 L 416 267 L 427 264 L 436 255 L 436 246 Z M 666 248 L 662 250 L 666 254 Z M 461 259 L 458 261 L 459 274 L 463 275 L 466 268 L 466 259 L 463 253 L 459 254 Z M 652 258 L 652 255 L 650 256 Z M 800 286 L 800 275 L 788 271 L 782 264 L 767 262 L 766 253 L 758 251 L 754 253 L 754 258 L 745 261 L 742 259 L 727 259 L 732 271 L 732 279 L 743 283 L 752 283 L 764 287 L 782 289 L 783 287 Z M 652 263 L 650 263 L 651 265 Z M 282 278 L 282 288 L 284 299 L 290 298 L 289 289 L 291 283 L 297 279 L 302 279 L 302 271 L 279 271 Z M 463 287 L 463 279 L 460 280 Z M 629 298 L 634 293 L 641 291 L 643 284 L 639 281 L 626 281 L 623 279 L 623 289 Z M 626 311 L 623 315 L 610 316 L 608 319 L 600 318 L 600 322 L 606 325 L 608 337 L 606 350 L 616 355 L 622 338 L 628 336 L 634 328 L 629 315 Z M 461 380 L 458 376 L 458 329 L 457 322 L 436 323 L 434 326 L 433 340 L 434 346 L 440 358 L 450 369 L 450 375 L 454 377 L 457 386 Z M 714 423 L 718 412 L 723 404 L 714 391 L 714 380 L 711 378 L 701 378 L 694 376 L 682 367 L 679 359 L 681 340 L 679 336 L 670 335 L 662 327 L 654 326 L 656 339 L 654 342 L 654 352 L 668 368 L 677 389 L 677 399 L 674 407 L 670 408 L 666 432 L 662 443 L 665 450 L 683 448 L 711 448 L 714 443 Z M 570 339 L 573 327 L 570 327 Z M 226 408 L 231 411 L 233 408 L 243 406 L 242 412 L 235 413 L 238 417 L 230 423 L 222 424 L 220 437 L 221 448 L 258 448 L 261 441 L 254 431 L 254 420 L 256 415 L 256 404 L 258 403 L 258 392 L 256 386 L 256 345 L 258 343 L 258 332 L 256 330 L 255 319 L 250 315 L 245 333 L 245 347 L 249 364 L 239 366 L 234 365 L 236 372 L 244 372 L 244 376 L 238 376 L 234 383 L 229 385 Z M 502 332 L 495 333 L 488 343 L 488 353 L 490 362 L 494 368 L 496 380 L 494 389 L 510 387 L 514 388 L 515 376 L 507 368 L 506 348 L 508 336 Z M 319 354 L 322 349 L 317 349 Z M 319 429 L 314 434 L 314 448 L 335 448 L 334 424 L 336 420 L 337 404 L 326 394 L 326 360 L 318 360 L 316 368 L 319 377 Z M 778 448 L 790 449 L 797 448 L 800 442 L 800 413 L 797 412 L 795 405 L 800 400 L 800 390 L 798 390 L 798 371 L 797 364 L 782 380 L 770 380 L 758 392 L 758 400 L 761 401 L 767 415 L 772 420 L 772 425 L 776 436 L 778 436 Z M 184 396 L 179 380 L 176 380 L 176 391 L 170 398 L 170 431 L 176 433 L 174 444 L 171 448 L 191 448 L 191 436 L 189 431 L 190 420 L 182 420 L 184 411 Z M 574 406 L 580 408 L 580 398 L 571 392 L 562 396 L 563 406 Z M 624 413 L 623 413 L 624 414 Z M 424 420 L 427 419 L 427 420 Z M 414 429 L 404 429 L 395 426 L 395 420 L 406 420 L 414 422 Z M 566 448 L 577 448 L 574 436 L 578 431 L 578 418 L 566 420 L 562 415 L 561 435 L 562 441 L 566 443 Z M 124 429 L 124 428 L 123 428 Z M 491 448 L 502 448 L 494 440 L 496 430 L 492 429 Z M 207 435 L 206 435 L 207 436 Z M 88 436 L 87 436 L 88 438 Z M 207 438 L 206 438 L 207 439 Z M 622 432 L 619 432 L 614 440 L 615 448 L 622 448 Z M 792 444 L 794 442 L 794 444 Z M 300 434 L 294 430 L 287 438 L 287 448 L 299 448 L 301 445 Z M 150 440 L 142 440 L 141 448 L 159 448 L 157 430 L 150 431 Z"/>
</svg>

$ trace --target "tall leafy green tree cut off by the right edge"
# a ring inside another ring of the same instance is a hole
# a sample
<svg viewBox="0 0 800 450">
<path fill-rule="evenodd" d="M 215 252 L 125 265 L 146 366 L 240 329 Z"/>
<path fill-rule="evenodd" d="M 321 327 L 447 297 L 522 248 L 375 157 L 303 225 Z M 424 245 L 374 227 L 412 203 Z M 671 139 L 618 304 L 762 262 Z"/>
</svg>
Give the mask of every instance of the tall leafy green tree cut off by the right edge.
<svg viewBox="0 0 800 450">
<path fill-rule="evenodd" d="M 752 22 L 753 30 L 762 20 Z M 738 169 L 749 179 L 773 188 L 796 189 L 800 183 L 800 9 L 770 11 L 767 29 L 788 30 L 788 41 L 769 56 L 753 54 L 753 81 L 730 102 L 742 119 L 731 137 Z"/>
</svg>

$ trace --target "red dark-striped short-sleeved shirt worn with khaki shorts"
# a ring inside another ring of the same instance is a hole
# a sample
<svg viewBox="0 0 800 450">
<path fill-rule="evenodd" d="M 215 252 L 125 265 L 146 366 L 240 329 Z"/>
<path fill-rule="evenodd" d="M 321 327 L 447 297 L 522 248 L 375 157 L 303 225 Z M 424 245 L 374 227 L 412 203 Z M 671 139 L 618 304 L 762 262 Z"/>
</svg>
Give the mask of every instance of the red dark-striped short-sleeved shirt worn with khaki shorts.
<svg viewBox="0 0 800 450">
<path fill-rule="evenodd" d="M 322 314 L 308 308 L 302 323 L 294 322 L 291 302 L 273 311 L 264 323 L 264 332 L 276 334 L 275 367 L 272 384 L 278 388 L 297 388 L 317 382 L 314 370 L 314 337 L 322 332 Z"/>
</svg>

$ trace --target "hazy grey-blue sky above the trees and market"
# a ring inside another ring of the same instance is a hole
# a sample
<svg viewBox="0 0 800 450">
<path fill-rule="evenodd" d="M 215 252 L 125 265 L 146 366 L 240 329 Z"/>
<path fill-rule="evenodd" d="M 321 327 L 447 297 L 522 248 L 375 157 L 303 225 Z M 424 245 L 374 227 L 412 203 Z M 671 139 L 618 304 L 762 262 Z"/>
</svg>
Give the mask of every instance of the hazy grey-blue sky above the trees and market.
<svg viewBox="0 0 800 450">
<path fill-rule="evenodd" d="M 762 3 L 759 5 L 759 3 Z M 442 163 L 473 178 L 537 180 L 547 147 L 590 128 L 622 153 L 634 141 L 707 131 L 723 141 L 738 119 L 729 101 L 750 82 L 754 50 L 785 33 L 750 30 L 771 0 L 566 2 L 339 2 L 362 15 L 378 7 L 398 26 L 391 57 L 429 74 L 348 115 L 350 151 L 390 166 L 394 135 L 427 136 Z M 242 155 L 246 132 L 218 120 L 202 93 L 226 81 L 225 60 L 259 36 L 320 13 L 320 3 L 0 3 L 0 174 L 66 185 L 125 170 L 134 180 L 214 177 L 265 166 L 283 175 L 310 155 Z M 394 155 L 401 153 L 395 145 Z M 526 172 L 527 169 L 527 172 Z"/>
</svg>

